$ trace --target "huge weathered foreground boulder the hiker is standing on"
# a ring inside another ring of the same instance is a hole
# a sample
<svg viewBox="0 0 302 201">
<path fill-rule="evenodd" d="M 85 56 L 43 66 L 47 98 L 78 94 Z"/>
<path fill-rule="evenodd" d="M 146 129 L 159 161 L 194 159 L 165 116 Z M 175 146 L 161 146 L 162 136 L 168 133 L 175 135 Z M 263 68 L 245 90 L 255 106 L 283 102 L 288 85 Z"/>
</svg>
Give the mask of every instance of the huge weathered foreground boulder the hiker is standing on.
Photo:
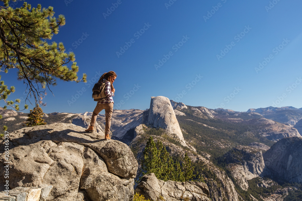
<svg viewBox="0 0 302 201">
<path fill-rule="evenodd" d="M 133 153 L 124 143 L 99 137 L 64 123 L 9 133 L 9 158 L 4 150 L 0 155 L 1 187 L 9 162 L 9 187 L 52 185 L 46 200 L 132 200 L 138 168 Z"/>
</svg>

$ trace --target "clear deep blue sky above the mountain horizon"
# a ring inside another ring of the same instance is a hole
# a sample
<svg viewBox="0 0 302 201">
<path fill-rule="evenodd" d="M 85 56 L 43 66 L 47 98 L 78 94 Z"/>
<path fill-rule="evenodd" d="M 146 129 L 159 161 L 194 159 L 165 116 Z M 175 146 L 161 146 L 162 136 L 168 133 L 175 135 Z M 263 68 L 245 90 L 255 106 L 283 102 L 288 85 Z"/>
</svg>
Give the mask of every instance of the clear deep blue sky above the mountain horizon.
<svg viewBox="0 0 302 201">
<path fill-rule="evenodd" d="M 151 96 L 235 111 L 302 108 L 301 1 L 27 2 L 66 17 L 52 40 L 88 75 L 88 83 L 58 80 L 45 113 L 93 111 L 93 84 L 108 71 L 117 74 L 114 109 L 147 109 Z M 16 87 L 8 99 L 25 98 L 16 71 L 1 75 Z"/>
</svg>

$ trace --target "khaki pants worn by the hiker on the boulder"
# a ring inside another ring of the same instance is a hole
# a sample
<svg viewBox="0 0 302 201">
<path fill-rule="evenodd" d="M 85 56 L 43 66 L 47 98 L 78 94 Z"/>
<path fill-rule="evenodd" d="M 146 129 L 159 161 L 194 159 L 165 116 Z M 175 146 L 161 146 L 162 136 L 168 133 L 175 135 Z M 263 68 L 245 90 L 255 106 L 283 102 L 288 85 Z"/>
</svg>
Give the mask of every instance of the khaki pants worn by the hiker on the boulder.
<svg viewBox="0 0 302 201">
<path fill-rule="evenodd" d="M 110 133 L 110 126 L 111 126 L 111 117 L 112 117 L 112 111 L 113 111 L 113 102 L 111 103 L 97 103 L 95 106 L 95 109 L 92 113 L 90 126 L 95 125 L 96 118 L 98 116 L 98 113 L 105 109 L 105 116 L 106 116 L 106 124 L 105 124 L 105 136 Z"/>
</svg>

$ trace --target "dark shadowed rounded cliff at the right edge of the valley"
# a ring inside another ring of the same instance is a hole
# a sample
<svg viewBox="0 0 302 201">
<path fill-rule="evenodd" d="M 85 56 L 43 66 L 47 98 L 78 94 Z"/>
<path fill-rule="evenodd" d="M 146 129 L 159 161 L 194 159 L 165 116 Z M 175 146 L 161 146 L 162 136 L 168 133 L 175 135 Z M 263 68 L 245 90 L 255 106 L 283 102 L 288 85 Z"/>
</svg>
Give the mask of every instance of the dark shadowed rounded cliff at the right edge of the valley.
<svg viewBox="0 0 302 201">
<path fill-rule="evenodd" d="M 302 139 L 284 138 L 263 154 L 265 174 L 291 183 L 302 183 Z M 269 175 L 270 174 L 270 175 Z"/>
</svg>

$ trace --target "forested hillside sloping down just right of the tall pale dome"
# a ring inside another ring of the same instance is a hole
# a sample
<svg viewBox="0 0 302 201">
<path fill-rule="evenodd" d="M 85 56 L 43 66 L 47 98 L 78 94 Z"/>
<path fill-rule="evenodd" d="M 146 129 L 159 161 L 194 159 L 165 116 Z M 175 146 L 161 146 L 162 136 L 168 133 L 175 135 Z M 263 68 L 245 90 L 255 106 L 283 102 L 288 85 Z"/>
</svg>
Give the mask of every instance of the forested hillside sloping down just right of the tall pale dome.
<svg viewBox="0 0 302 201">
<path fill-rule="evenodd" d="M 237 145 L 248 145 L 252 142 L 264 143 L 268 146 L 275 142 L 262 137 L 255 125 L 255 116 L 243 113 L 240 115 L 223 115 L 223 111 L 217 111 L 216 118 L 200 118 L 193 114 L 191 106 L 181 111 L 185 115 L 177 116 L 184 138 L 192 142 L 192 145 L 202 154 L 206 152 L 212 157 L 219 157 Z"/>
</svg>

